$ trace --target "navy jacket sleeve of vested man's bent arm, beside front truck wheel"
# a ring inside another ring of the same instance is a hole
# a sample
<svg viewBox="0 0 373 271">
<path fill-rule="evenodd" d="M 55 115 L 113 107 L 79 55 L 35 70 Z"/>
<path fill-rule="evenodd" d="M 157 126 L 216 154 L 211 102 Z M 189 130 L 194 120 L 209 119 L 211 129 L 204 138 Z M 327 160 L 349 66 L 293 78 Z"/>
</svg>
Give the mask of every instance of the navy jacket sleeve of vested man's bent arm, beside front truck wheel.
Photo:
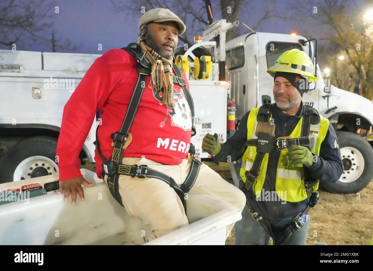
<svg viewBox="0 0 373 271">
<path fill-rule="evenodd" d="M 334 183 L 338 181 L 343 172 L 343 163 L 341 151 L 337 146 L 337 136 L 332 124 L 329 123 L 325 139 L 320 146 L 320 155 L 312 166 L 304 167 L 305 174 L 310 174 L 321 182 Z"/>
</svg>

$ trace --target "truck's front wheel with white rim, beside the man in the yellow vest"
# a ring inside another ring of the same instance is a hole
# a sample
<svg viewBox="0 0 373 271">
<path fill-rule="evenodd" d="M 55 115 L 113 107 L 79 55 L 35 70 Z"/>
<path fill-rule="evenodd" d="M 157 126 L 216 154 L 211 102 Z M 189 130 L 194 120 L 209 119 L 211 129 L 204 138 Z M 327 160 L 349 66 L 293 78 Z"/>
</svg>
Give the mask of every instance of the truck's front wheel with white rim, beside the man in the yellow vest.
<svg viewBox="0 0 373 271">
<path fill-rule="evenodd" d="M 361 136 L 336 131 L 344 171 L 335 183 L 320 182 L 320 187 L 330 193 L 357 193 L 373 178 L 373 149 Z"/>
</svg>

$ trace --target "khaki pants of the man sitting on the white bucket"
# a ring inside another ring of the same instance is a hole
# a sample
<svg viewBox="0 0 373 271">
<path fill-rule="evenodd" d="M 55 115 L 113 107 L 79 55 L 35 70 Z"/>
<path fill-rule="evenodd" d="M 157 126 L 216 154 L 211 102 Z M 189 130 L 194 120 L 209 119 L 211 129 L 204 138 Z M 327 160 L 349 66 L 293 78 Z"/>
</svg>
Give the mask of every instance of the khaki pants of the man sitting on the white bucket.
<svg viewBox="0 0 373 271">
<path fill-rule="evenodd" d="M 175 166 L 134 157 L 124 157 L 122 163 L 146 164 L 149 168 L 172 177 L 180 186 L 189 173 L 191 157 L 189 154 L 188 159 L 184 159 L 181 164 Z M 104 181 L 106 179 L 105 175 Z M 189 224 L 179 196 L 162 180 L 120 175 L 119 193 L 127 212 L 140 218 L 150 227 L 152 232 L 145 238 L 147 242 Z M 241 190 L 226 182 L 205 164 L 200 167 L 197 180 L 188 193 L 212 196 L 239 208 L 241 212 L 246 204 L 245 195 Z M 234 223 L 228 226 L 227 236 L 233 226 Z"/>
</svg>

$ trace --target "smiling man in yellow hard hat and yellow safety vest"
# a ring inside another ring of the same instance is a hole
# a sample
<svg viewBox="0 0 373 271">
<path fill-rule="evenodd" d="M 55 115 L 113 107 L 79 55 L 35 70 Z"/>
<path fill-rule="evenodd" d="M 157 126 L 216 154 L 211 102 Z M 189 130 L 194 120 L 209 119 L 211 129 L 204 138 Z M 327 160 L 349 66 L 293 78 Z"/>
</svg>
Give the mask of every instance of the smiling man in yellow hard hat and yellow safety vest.
<svg viewBox="0 0 373 271">
<path fill-rule="evenodd" d="M 240 188 L 247 198 L 235 226 L 236 245 L 305 245 L 319 182 L 336 182 L 343 166 L 338 139 L 329 120 L 302 97 L 316 82 L 304 51 L 285 51 L 267 70 L 274 76 L 276 103 L 252 108 L 236 133 L 220 144 L 207 134 L 202 149 L 215 161 L 242 157 Z"/>
</svg>

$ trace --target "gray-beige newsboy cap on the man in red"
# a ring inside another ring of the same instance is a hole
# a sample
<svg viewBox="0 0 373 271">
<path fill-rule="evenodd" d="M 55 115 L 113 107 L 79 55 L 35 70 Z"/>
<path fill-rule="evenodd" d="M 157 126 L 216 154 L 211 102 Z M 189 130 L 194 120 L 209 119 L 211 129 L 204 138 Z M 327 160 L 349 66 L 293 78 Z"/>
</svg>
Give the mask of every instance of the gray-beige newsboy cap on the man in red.
<svg viewBox="0 0 373 271">
<path fill-rule="evenodd" d="M 183 21 L 180 20 L 178 16 L 176 16 L 175 13 L 173 13 L 169 9 L 151 9 L 145 12 L 141 17 L 139 21 L 139 29 L 143 28 L 147 23 L 150 22 L 168 22 L 173 21 L 176 22 L 179 26 L 179 35 L 183 34 L 185 32 L 185 25 Z"/>
</svg>

